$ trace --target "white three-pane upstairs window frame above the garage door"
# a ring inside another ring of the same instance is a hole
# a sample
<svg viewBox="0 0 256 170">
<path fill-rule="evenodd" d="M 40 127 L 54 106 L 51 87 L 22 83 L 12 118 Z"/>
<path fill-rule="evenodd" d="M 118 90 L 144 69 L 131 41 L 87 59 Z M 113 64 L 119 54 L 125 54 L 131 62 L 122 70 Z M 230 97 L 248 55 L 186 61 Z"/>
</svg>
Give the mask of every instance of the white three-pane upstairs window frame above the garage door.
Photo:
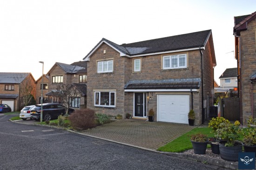
<svg viewBox="0 0 256 170">
<path fill-rule="evenodd" d="M 185 56 L 185 62 L 184 66 L 180 66 L 180 58 Z M 177 65 L 174 65 L 172 58 L 177 57 Z M 168 58 L 168 66 L 166 67 L 166 58 Z M 188 57 L 187 54 L 175 54 L 175 55 L 168 55 L 168 56 L 163 56 L 162 57 L 162 69 L 182 69 L 182 68 L 187 68 L 187 61 Z"/>
</svg>

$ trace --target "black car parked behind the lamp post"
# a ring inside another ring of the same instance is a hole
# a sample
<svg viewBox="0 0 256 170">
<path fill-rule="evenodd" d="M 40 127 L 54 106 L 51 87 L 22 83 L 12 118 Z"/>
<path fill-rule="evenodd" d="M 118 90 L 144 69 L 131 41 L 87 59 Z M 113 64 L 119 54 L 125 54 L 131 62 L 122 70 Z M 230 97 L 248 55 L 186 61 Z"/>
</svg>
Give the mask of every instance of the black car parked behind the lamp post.
<svg viewBox="0 0 256 170">
<path fill-rule="evenodd" d="M 74 112 L 74 109 L 69 108 L 68 113 Z M 40 120 L 41 104 L 35 105 L 30 113 L 30 118 Z M 59 115 L 64 115 L 66 108 L 58 103 L 43 103 L 43 120 L 54 120 Z"/>
</svg>

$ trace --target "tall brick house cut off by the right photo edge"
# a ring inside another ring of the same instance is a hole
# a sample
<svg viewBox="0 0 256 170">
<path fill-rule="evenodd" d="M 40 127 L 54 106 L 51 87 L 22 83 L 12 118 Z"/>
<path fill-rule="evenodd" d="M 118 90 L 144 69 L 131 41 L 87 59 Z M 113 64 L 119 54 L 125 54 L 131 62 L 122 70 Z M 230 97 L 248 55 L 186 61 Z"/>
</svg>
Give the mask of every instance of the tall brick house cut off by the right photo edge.
<svg viewBox="0 0 256 170">
<path fill-rule="evenodd" d="M 234 17 L 234 23 L 240 118 L 245 123 L 256 116 L 256 12 Z"/>
</svg>

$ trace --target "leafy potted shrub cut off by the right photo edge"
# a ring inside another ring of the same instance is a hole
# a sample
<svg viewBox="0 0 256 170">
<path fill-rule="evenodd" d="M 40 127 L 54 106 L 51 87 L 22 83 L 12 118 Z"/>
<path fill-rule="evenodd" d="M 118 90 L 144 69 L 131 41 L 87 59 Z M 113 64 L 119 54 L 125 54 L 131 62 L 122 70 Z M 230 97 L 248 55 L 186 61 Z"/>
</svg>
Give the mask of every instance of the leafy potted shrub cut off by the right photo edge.
<svg viewBox="0 0 256 170">
<path fill-rule="evenodd" d="M 249 116 L 248 128 L 243 131 L 243 148 L 245 152 L 255 152 L 256 154 L 256 118 Z"/>
</svg>

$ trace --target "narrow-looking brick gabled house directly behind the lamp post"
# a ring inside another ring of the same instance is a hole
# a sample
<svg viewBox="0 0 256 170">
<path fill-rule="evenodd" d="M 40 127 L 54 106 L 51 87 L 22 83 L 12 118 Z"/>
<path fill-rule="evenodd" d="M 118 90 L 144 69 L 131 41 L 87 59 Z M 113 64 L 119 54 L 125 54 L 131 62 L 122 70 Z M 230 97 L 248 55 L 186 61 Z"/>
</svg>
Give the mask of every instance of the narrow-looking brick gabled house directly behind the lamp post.
<svg viewBox="0 0 256 170">
<path fill-rule="evenodd" d="M 49 84 L 49 76 L 43 76 L 43 85 L 42 85 L 42 76 L 35 82 L 36 84 L 36 104 L 40 104 L 43 99 L 43 103 L 48 103 L 48 84 Z M 43 88 L 43 96 L 42 96 L 42 88 Z"/>
</svg>

